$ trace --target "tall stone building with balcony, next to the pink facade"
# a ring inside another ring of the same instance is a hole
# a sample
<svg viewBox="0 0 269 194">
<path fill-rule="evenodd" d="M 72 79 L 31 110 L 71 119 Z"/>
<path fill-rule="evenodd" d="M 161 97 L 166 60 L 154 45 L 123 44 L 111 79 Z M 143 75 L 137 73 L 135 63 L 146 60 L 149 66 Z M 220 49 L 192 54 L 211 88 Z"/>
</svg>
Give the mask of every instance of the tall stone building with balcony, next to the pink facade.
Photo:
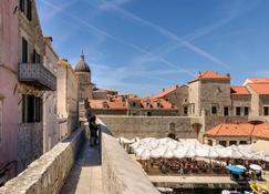
<svg viewBox="0 0 269 194">
<path fill-rule="evenodd" d="M 21 172 L 43 153 L 43 101 L 56 90 L 56 76 L 43 65 L 45 47 L 35 1 L 19 1 L 19 134 L 18 170 Z"/>
</svg>

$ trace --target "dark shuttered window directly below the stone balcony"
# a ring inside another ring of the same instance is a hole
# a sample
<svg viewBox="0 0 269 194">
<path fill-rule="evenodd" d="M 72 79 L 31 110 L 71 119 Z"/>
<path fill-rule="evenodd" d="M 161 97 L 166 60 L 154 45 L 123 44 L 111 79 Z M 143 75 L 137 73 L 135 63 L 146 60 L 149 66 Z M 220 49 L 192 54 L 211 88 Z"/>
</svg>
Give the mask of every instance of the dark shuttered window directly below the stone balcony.
<svg viewBox="0 0 269 194">
<path fill-rule="evenodd" d="M 22 122 L 35 123 L 41 122 L 42 102 L 40 98 L 34 95 L 22 95 Z"/>
</svg>

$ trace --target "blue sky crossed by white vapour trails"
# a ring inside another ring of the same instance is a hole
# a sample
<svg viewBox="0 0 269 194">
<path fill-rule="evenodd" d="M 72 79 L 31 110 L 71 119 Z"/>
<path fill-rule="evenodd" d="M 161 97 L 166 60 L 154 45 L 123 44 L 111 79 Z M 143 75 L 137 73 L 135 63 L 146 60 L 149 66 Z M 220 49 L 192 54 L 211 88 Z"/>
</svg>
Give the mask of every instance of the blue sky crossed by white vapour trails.
<svg viewBox="0 0 269 194">
<path fill-rule="evenodd" d="M 268 0 L 37 0 L 44 35 L 99 88 L 147 95 L 199 71 L 269 76 Z"/>
</svg>

